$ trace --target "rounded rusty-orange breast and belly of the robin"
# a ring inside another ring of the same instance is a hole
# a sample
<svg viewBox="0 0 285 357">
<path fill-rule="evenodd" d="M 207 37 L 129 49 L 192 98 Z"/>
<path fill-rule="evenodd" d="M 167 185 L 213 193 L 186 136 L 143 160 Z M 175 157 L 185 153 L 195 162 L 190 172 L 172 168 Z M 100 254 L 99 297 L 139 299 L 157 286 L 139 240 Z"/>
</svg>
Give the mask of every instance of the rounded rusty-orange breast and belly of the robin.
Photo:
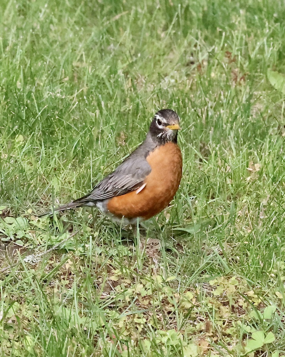
<svg viewBox="0 0 285 357">
<path fill-rule="evenodd" d="M 157 147 L 146 158 L 151 172 L 145 179 L 145 187 L 113 197 L 108 210 L 117 217 L 144 220 L 161 212 L 174 197 L 182 176 L 182 157 L 177 144 L 166 143 Z"/>
</svg>

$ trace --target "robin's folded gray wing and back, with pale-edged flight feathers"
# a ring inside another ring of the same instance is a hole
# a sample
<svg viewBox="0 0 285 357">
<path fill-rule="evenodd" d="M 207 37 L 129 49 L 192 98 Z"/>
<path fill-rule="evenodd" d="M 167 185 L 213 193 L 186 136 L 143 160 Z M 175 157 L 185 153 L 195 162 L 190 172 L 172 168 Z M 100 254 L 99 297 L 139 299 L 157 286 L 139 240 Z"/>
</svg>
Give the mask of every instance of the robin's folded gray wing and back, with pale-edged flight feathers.
<svg viewBox="0 0 285 357">
<path fill-rule="evenodd" d="M 146 176 L 151 172 L 146 156 L 149 151 L 154 149 L 150 145 L 149 150 L 145 150 L 145 144 L 149 143 L 144 142 L 141 144 L 115 171 L 100 181 L 90 193 L 73 202 L 83 203 L 106 200 L 107 198 L 124 195 L 124 193 L 141 187 Z"/>
</svg>

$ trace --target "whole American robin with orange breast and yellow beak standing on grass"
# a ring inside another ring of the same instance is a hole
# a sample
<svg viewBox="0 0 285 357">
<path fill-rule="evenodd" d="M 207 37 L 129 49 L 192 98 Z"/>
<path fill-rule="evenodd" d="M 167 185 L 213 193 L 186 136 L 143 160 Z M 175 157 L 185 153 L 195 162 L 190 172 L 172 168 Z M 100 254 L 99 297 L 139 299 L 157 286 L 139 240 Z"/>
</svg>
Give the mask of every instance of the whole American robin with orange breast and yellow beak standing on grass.
<svg viewBox="0 0 285 357">
<path fill-rule="evenodd" d="M 54 211 L 97 207 L 115 221 L 135 223 L 160 213 L 174 197 L 182 175 L 181 151 L 177 145 L 179 116 L 171 109 L 157 112 L 149 132 L 111 174 L 86 196 Z M 41 214 L 52 214 L 53 211 Z"/>
</svg>

